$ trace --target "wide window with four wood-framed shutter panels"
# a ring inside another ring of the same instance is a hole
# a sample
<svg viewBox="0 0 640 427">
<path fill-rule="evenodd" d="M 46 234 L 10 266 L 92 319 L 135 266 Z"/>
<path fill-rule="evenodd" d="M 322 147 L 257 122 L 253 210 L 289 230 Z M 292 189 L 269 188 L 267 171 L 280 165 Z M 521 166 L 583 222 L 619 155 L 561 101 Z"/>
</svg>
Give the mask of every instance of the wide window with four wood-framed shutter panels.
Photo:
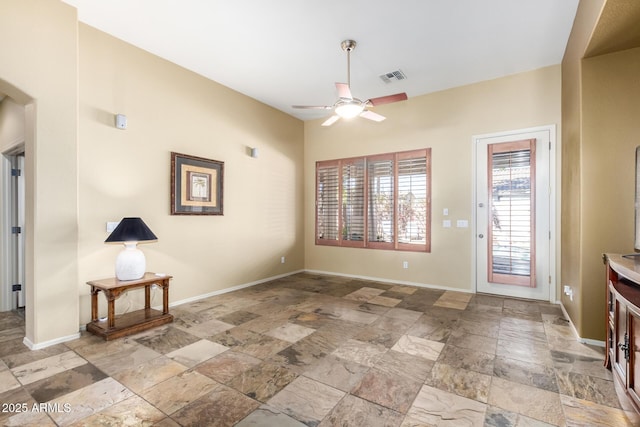
<svg viewBox="0 0 640 427">
<path fill-rule="evenodd" d="M 430 250 L 431 150 L 316 163 L 316 244 Z"/>
</svg>

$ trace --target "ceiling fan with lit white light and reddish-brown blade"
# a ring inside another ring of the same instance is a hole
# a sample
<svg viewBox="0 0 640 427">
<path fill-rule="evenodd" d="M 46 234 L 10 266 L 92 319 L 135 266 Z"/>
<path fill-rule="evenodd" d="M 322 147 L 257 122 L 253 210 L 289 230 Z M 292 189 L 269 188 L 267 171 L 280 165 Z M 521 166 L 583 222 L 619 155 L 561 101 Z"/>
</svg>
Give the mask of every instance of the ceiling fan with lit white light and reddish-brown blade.
<svg viewBox="0 0 640 427">
<path fill-rule="evenodd" d="M 396 93 L 394 95 L 380 96 L 378 98 L 370 98 L 362 101 L 351 95 L 351 52 L 356 47 L 353 40 L 344 40 L 340 47 L 347 52 L 347 83 L 336 83 L 338 89 L 338 100 L 333 105 L 292 105 L 293 108 L 315 109 L 315 110 L 333 110 L 334 115 L 329 117 L 322 123 L 322 126 L 331 126 L 340 118 L 350 119 L 360 116 L 365 119 L 381 122 L 385 119 L 378 113 L 367 110 L 367 107 L 376 107 L 382 104 L 390 104 L 392 102 L 405 101 L 407 94 Z"/>
</svg>

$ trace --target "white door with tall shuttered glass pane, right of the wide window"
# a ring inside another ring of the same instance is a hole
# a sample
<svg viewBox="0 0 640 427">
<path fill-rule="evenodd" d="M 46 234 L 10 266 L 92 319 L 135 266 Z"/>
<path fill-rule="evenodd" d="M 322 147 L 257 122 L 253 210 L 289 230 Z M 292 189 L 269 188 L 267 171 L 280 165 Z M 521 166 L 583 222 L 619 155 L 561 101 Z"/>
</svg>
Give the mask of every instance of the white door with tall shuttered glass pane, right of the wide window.
<svg viewBox="0 0 640 427">
<path fill-rule="evenodd" d="M 552 300 L 552 131 L 474 139 L 478 292 Z"/>
</svg>

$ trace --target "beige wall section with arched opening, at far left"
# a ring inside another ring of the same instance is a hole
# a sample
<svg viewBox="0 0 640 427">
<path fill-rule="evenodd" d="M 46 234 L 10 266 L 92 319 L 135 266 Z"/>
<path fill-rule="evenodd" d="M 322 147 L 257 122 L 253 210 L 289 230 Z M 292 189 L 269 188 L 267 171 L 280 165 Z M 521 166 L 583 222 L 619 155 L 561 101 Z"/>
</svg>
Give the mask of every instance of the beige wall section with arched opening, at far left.
<svg viewBox="0 0 640 427">
<path fill-rule="evenodd" d="M 0 2 L 0 92 L 26 105 L 26 339 L 78 332 L 77 26 L 62 2 Z"/>
</svg>

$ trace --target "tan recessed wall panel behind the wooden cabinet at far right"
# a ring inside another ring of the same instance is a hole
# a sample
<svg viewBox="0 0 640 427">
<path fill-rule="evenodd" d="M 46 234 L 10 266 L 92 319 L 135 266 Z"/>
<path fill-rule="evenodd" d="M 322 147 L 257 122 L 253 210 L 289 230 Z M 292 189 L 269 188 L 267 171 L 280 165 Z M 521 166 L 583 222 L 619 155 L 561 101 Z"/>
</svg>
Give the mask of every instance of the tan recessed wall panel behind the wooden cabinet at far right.
<svg viewBox="0 0 640 427">
<path fill-rule="evenodd" d="M 605 335 L 603 253 L 633 252 L 640 48 L 583 61 L 581 335 Z"/>
</svg>

